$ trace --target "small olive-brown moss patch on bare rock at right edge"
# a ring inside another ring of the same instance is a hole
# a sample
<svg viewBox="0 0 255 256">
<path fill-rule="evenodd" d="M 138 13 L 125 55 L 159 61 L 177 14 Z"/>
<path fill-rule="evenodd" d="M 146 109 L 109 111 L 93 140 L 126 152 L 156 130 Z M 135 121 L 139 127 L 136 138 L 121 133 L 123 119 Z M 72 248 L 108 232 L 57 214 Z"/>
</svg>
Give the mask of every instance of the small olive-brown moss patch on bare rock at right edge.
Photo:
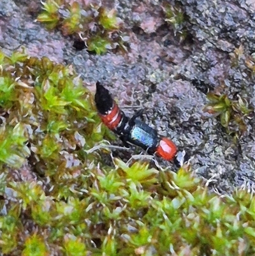
<svg viewBox="0 0 255 256">
<path fill-rule="evenodd" d="M 247 68 L 242 73 L 247 74 L 245 77 L 254 77 L 254 72 L 252 72 L 254 60 L 252 55 L 247 56 L 244 54 L 242 45 L 230 53 L 230 59 L 233 74 L 240 72 L 240 70 L 235 70 L 235 68 L 244 68 L 246 66 Z M 245 80 L 236 83 L 234 86 L 230 86 L 230 84 L 226 86 L 223 83 L 207 94 L 210 102 L 205 106 L 204 111 L 214 114 L 216 117 L 219 116 L 221 125 L 228 134 L 234 136 L 235 140 L 247 132 L 250 121 L 254 117 L 254 108 L 249 103 L 249 98 L 247 97 L 247 94 L 249 94 L 247 91 L 249 92 L 250 90 L 247 84 Z"/>
</svg>

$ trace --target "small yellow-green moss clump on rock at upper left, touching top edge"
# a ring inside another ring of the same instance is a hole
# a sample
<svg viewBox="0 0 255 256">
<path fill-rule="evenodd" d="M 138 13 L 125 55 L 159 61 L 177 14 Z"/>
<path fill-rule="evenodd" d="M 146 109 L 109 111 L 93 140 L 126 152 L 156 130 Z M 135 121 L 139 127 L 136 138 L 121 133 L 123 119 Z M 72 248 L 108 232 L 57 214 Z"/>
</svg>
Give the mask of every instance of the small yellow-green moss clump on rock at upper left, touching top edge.
<svg viewBox="0 0 255 256">
<path fill-rule="evenodd" d="M 87 49 L 96 54 L 117 47 L 126 50 L 120 35 L 120 19 L 114 9 L 63 0 L 47 0 L 42 4 L 43 11 L 37 20 L 48 29 L 59 27 L 64 35 L 73 35 L 77 40 L 82 38 Z"/>
</svg>

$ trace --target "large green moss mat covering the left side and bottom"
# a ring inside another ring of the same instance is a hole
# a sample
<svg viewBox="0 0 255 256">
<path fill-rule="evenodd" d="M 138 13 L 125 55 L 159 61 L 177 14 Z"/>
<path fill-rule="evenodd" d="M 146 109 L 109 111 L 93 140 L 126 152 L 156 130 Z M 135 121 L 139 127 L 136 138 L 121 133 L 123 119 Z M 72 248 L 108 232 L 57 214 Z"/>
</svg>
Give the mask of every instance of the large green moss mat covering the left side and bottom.
<svg viewBox="0 0 255 256">
<path fill-rule="evenodd" d="M 92 150 L 105 128 L 71 66 L 14 52 L 0 68 L 13 84 L 1 91 L 1 252 L 254 255 L 252 194 L 209 193 L 189 166 L 105 165 Z"/>
</svg>

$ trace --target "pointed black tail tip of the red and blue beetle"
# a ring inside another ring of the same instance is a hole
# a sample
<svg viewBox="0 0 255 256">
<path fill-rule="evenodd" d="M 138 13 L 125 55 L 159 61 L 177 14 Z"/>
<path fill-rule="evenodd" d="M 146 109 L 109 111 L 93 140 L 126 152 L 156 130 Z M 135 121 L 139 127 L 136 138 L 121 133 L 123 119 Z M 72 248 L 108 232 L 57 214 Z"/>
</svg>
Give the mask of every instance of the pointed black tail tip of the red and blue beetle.
<svg viewBox="0 0 255 256">
<path fill-rule="evenodd" d="M 100 114 L 106 114 L 113 107 L 113 99 L 108 89 L 103 87 L 99 82 L 96 82 L 95 94 L 96 108 Z"/>
</svg>

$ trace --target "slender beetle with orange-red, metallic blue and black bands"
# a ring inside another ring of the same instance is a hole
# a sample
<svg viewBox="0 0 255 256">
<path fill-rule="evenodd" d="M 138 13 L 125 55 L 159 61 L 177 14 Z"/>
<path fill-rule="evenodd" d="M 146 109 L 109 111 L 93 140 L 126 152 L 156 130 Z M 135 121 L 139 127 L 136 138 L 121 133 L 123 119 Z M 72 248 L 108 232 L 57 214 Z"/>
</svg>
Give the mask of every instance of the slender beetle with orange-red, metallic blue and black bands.
<svg viewBox="0 0 255 256">
<path fill-rule="evenodd" d="M 177 146 L 170 139 L 159 136 L 148 124 L 137 119 L 142 116 L 143 110 L 138 110 L 131 119 L 128 119 L 112 99 L 108 89 L 99 82 L 96 83 L 95 102 L 102 122 L 119 135 L 125 146 L 128 146 L 129 142 L 164 160 L 175 160 L 179 165 Z"/>
</svg>

